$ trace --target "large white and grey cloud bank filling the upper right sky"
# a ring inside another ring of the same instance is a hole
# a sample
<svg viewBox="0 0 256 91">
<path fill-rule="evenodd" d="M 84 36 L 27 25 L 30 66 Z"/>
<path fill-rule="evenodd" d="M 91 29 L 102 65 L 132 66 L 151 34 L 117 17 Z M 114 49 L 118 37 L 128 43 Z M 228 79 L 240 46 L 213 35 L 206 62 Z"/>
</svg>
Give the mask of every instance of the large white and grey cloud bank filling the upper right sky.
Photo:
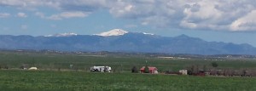
<svg viewBox="0 0 256 91">
<path fill-rule="evenodd" d="M 256 31 L 253 0 L 153 0 L 150 3 L 119 1 L 110 13 L 139 20 L 144 26 L 191 30 Z"/>
</svg>

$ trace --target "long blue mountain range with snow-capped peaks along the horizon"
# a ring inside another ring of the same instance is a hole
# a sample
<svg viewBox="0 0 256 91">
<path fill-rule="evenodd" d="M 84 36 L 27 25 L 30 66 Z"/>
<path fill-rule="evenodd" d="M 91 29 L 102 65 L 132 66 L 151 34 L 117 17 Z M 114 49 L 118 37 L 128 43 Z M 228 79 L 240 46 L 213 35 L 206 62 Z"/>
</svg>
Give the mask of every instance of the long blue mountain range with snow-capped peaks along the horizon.
<svg viewBox="0 0 256 91">
<path fill-rule="evenodd" d="M 95 35 L 63 33 L 32 37 L 0 35 L 2 49 L 58 50 L 68 52 L 131 52 L 160 54 L 256 54 L 249 44 L 207 42 L 200 38 L 181 35 L 161 37 L 145 32 L 121 29 Z"/>
</svg>

